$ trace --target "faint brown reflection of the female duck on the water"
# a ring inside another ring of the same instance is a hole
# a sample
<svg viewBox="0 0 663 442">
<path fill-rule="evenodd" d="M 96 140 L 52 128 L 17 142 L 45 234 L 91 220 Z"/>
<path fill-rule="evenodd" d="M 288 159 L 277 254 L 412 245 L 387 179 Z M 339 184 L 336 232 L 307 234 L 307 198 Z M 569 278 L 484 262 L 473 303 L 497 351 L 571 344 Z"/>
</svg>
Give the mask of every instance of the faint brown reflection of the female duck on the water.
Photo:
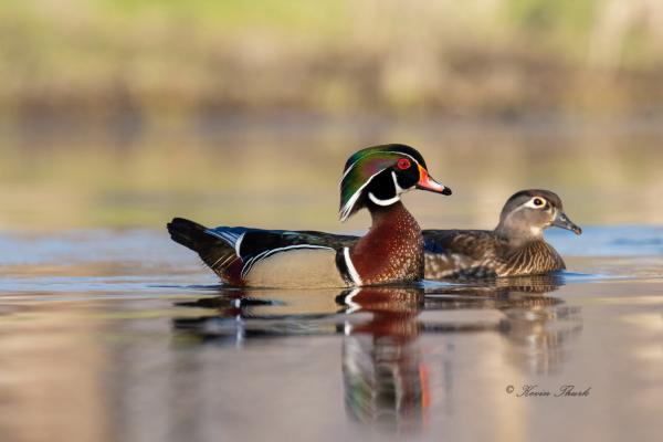
<svg viewBox="0 0 663 442">
<path fill-rule="evenodd" d="M 504 346 L 504 358 L 522 375 L 555 373 L 561 370 L 568 357 L 568 341 L 582 330 L 580 308 L 548 295 L 561 285 L 564 278 L 554 274 L 435 288 L 427 291 L 424 309 L 499 312 L 498 322 L 456 322 L 445 327 L 456 333 L 498 333 L 508 344 Z M 425 332 L 443 332 L 439 327 L 439 324 L 427 325 Z"/>
</svg>

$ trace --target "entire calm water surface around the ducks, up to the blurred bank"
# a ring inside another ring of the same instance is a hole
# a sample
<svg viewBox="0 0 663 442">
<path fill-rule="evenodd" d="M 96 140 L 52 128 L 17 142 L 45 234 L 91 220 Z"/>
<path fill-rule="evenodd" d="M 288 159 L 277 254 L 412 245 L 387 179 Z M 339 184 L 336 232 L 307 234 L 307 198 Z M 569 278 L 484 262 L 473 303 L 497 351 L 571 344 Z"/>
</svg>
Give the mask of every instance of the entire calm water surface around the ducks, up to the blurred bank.
<svg viewBox="0 0 663 442">
<path fill-rule="evenodd" d="M 663 228 L 643 224 L 663 223 L 662 127 L 0 124 L 0 441 L 660 440 Z M 492 228 L 514 191 L 557 191 L 585 229 L 550 232 L 569 272 L 239 292 L 165 232 L 359 231 L 366 213 L 337 221 L 341 166 L 392 141 L 454 191 L 406 197 L 424 228 Z M 554 397 L 569 385 L 588 396 Z"/>
</svg>

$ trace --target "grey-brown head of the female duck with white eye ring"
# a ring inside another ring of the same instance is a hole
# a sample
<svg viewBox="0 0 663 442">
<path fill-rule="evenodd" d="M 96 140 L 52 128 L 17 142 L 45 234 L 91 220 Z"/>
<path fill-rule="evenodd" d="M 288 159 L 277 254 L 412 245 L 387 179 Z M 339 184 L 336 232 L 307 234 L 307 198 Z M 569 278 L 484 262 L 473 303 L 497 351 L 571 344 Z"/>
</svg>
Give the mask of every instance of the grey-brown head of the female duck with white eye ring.
<svg viewBox="0 0 663 442">
<path fill-rule="evenodd" d="M 576 234 L 582 230 L 564 212 L 557 193 L 544 189 L 527 189 L 514 193 L 504 204 L 497 231 L 511 240 L 540 239 L 548 227 L 570 230 Z"/>
</svg>

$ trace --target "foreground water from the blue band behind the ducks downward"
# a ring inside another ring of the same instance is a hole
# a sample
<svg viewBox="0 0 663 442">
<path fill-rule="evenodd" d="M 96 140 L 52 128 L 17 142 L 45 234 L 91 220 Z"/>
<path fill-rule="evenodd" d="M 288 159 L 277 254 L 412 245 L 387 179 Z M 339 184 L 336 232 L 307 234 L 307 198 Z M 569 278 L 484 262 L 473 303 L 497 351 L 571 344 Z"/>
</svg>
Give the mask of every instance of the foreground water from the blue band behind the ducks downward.
<svg viewBox="0 0 663 442">
<path fill-rule="evenodd" d="M 359 292 L 224 290 L 158 230 L 4 233 L 0 440 L 660 440 L 663 228 L 550 233 L 561 275 Z"/>
</svg>

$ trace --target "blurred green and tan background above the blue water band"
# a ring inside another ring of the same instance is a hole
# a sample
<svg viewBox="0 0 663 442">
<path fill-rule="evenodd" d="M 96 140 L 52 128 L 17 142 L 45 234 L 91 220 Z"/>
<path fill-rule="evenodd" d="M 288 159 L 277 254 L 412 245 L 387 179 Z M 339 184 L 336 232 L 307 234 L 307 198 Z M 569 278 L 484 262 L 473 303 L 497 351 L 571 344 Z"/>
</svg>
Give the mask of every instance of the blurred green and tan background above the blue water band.
<svg viewBox="0 0 663 442">
<path fill-rule="evenodd" d="M 343 164 L 396 141 L 454 190 L 425 227 L 663 221 L 657 0 L 4 0 L 0 78 L 3 229 L 360 229 Z"/>
</svg>

